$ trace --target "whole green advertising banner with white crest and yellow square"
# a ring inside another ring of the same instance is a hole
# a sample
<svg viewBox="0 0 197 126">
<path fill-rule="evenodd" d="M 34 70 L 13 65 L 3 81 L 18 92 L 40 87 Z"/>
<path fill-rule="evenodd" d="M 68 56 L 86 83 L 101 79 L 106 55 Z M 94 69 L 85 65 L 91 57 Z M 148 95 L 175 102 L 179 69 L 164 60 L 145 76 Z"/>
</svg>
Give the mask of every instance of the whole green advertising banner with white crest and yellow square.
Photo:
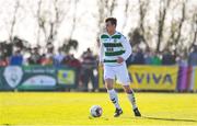
<svg viewBox="0 0 197 126">
<path fill-rule="evenodd" d="M 76 88 L 74 68 L 54 66 L 0 67 L 0 90 L 61 90 Z"/>
</svg>

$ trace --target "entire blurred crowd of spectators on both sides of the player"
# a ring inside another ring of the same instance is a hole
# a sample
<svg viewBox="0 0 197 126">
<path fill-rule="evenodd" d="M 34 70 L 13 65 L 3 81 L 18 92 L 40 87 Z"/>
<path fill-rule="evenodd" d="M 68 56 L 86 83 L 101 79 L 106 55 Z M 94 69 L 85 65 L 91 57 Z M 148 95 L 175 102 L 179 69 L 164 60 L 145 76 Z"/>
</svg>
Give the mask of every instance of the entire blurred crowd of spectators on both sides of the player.
<svg viewBox="0 0 197 126">
<path fill-rule="evenodd" d="M 46 53 L 40 53 L 39 47 L 28 48 L 23 51 L 20 48 L 13 50 L 11 56 L 0 54 L 0 67 L 16 65 L 42 65 L 42 66 L 68 66 L 73 67 L 78 71 L 78 88 L 83 91 L 97 91 L 99 89 L 99 72 L 97 72 L 97 55 L 88 48 L 80 58 L 76 58 L 73 54 L 66 54 L 61 48 L 54 53 L 54 49 L 47 49 Z M 132 55 L 126 61 L 127 65 L 154 65 L 154 66 L 197 66 L 197 46 L 194 46 L 189 54 L 177 54 L 165 49 L 162 53 L 157 53 L 150 49 L 142 50 L 134 48 Z M 91 83 L 91 84 L 89 84 Z M 92 88 L 90 88 L 92 87 Z"/>
</svg>

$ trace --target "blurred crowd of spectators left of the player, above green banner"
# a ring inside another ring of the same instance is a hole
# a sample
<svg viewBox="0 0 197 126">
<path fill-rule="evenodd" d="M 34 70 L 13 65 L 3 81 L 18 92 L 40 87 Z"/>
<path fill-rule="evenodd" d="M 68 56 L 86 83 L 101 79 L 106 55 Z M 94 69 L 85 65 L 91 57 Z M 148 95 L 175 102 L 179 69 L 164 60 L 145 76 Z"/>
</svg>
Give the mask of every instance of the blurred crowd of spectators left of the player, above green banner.
<svg viewBox="0 0 197 126">
<path fill-rule="evenodd" d="M 76 58 L 73 54 L 66 54 L 62 48 L 54 53 L 53 48 L 47 48 L 46 53 L 40 53 L 39 47 L 22 50 L 15 48 L 11 56 L 0 55 L 0 67 L 5 66 L 66 66 L 77 70 L 78 89 L 82 91 L 97 91 L 97 56 L 93 55 L 88 48 L 80 58 Z M 91 83 L 91 84 L 89 84 Z M 92 87 L 92 88 L 91 88 Z"/>
</svg>

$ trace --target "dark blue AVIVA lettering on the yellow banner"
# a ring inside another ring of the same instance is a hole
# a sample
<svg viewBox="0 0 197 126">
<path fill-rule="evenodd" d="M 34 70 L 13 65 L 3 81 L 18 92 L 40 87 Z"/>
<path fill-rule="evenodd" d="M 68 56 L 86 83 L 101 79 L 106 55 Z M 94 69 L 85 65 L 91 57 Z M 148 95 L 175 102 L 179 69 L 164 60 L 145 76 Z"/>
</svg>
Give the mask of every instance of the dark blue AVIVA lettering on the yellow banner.
<svg viewBox="0 0 197 126">
<path fill-rule="evenodd" d="M 173 78 L 170 73 L 132 72 L 129 73 L 131 83 L 147 84 L 173 84 Z"/>
</svg>

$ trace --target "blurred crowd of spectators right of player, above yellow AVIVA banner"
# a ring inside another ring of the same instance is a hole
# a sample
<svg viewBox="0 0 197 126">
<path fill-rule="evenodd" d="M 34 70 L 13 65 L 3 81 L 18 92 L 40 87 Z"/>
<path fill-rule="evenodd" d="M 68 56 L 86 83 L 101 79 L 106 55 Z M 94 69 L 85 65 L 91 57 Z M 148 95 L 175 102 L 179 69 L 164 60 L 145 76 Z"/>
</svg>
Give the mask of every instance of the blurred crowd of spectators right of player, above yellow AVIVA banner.
<svg viewBox="0 0 197 126">
<path fill-rule="evenodd" d="M 127 65 L 163 65 L 163 66 L 197 66 L 197 46 L 190 53 L 176 53 L 165 49 L 164 51 L 142 50 L 137 47 L 127 60 Z"/>
</svg>

